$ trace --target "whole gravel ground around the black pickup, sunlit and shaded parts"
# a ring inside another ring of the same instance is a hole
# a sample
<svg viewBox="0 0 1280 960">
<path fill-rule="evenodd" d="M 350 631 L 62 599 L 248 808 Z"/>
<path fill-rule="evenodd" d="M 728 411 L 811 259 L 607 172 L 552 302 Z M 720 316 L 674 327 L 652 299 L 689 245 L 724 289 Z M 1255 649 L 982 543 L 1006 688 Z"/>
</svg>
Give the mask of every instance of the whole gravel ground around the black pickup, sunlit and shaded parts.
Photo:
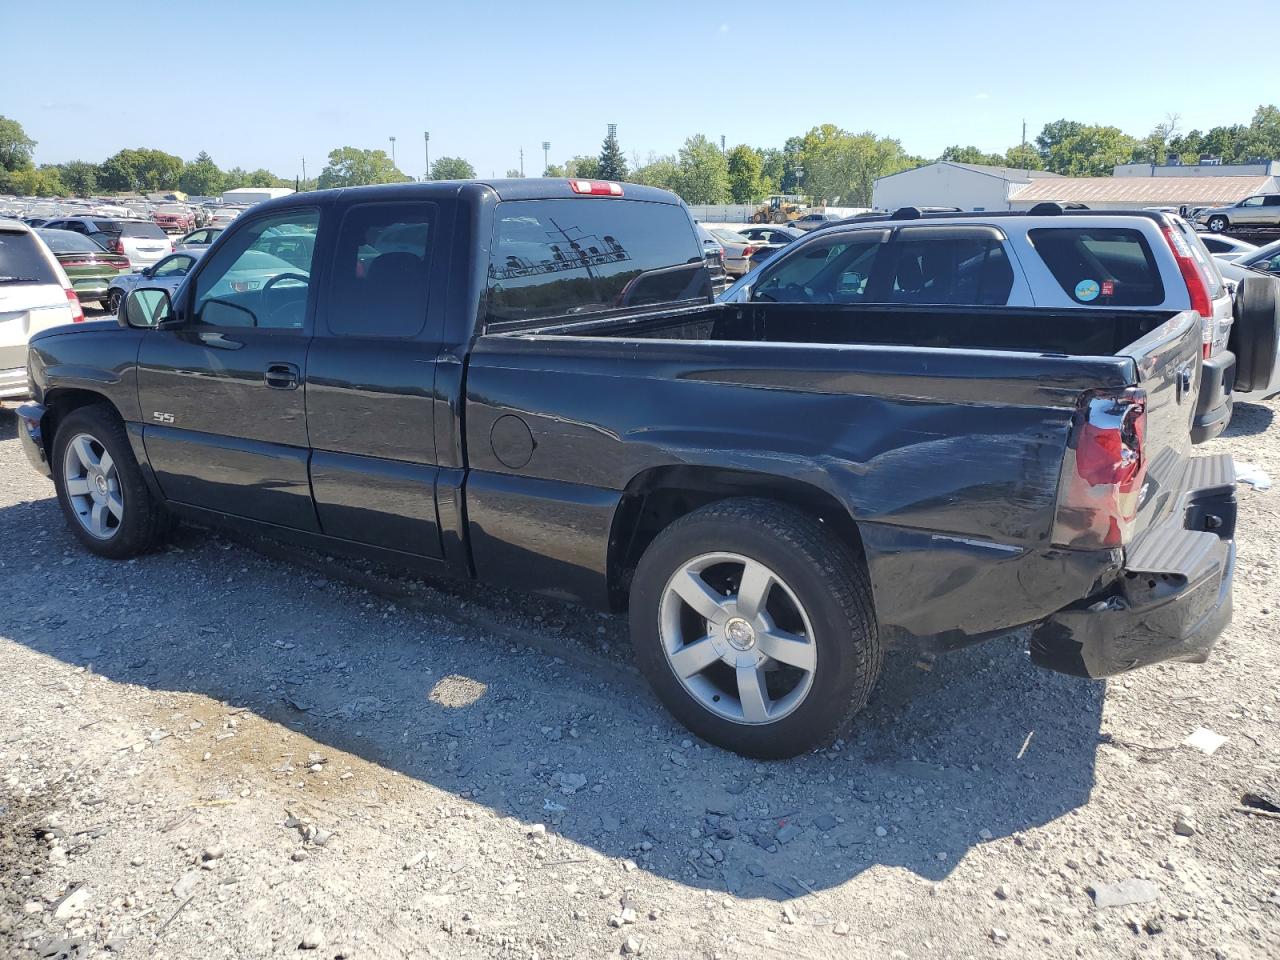
<svg viewBox="0 0 1280 960">
<path fill-rule="evenodd" d="M 1276 410 L 1207 452 L 1280 477 Z M 1280 819 L 1236 809 L 1280 788 L 1276 492 L 1207 664 L 892 653 L 849 740 L 760 764 L 618 618 L 198 530 L 96 559 L 14 431 L 0 955 L 1280 956 Z"/>
</svg>

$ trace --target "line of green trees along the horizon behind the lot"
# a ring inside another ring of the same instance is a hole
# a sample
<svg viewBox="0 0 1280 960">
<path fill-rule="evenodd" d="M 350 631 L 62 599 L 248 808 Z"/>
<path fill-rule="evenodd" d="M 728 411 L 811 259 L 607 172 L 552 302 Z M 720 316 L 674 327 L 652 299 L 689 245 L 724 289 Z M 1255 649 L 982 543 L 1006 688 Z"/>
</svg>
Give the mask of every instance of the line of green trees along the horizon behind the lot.
<svg viewBox="0 0 1280 960">
<path fill-rule="evenodd" d="M 270 170 L 220 169 L 201 151 L 183 160 L 160 150 L 122 150 L 100 164 L 73 160 L 65 164 L 33 163 L 36 142 L 17 120 L 0 116 L 0 192 L 24 196 L 90 196 L 180 189 L 191 195 L 216 195 L 233 187 L 296 186 L 302 189 L 355 187 L 369 183 L 412 180 L 383 150 L 339 147 L 314 179 L 282 179 Z M 781 147 L 739 143 L 727 150 L 698 133 L 675 154 L 632 154 L 628 161 L 611 129 L 596 155 L 580 155 L 550 164 L 544 177 L 630 180 L 663 187 L 689 204 L 750 204 L 773 193 L 799 193 L 835 206 L 870 206 L 872 184 L 879 177 L 938 160 L 1048 170 L 1068 177 L 1105 177 L 1117 164 L 1164 164 L 1178 157 L 1198 163 L 1202 155 L 1224 164 L 1280 159 L 1280 108 L 1262 105 L 1248 124 L 1213 127 L 1207 132 L 1180 129 L 1178 114 L 1169 114 L 1152 131 L 1135 137 L 1119 127 L 1053 120 L 1030 142 L 1005 152 L 977 146 L 948 146 L 938 157 L 909 154 L 900 141 L 870 131 L 861 133 L 822 124 L 788 137 Z M 475 168 L 458 156 L 431 164 L 430 178 L 471 179 Z M 520 170 L 507 170 L 518 177 Z"/>
</svg>

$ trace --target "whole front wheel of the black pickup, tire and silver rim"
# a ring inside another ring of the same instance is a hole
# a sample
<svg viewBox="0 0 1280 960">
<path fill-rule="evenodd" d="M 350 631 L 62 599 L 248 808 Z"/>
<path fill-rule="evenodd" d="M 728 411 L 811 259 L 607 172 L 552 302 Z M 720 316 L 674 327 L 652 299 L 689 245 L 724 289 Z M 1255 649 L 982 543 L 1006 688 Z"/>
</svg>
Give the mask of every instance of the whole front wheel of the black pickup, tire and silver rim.
<svg viewBox="0 0 1280 960">
<path fill-rule="evenodd" d="M 109 407 L 81 407 L 63 419 L 51 466 L 68 527 L 99 557 L 136 557 L 169 529 L 168 513 L 147 489 L 124 424 Z"/>
</svg>

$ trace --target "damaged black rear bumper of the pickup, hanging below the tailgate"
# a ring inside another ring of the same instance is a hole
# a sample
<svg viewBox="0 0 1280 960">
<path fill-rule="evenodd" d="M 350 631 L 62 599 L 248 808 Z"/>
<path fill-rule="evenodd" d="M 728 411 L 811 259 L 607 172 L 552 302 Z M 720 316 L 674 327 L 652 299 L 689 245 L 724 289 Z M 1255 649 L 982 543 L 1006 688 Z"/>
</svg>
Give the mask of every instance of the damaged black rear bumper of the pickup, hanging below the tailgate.
<svg viewBox="0 0 1280 960">
<path fill-rule="evenodd" d="M 1030 654 L 1037 664 L 1110 677 L 1162 660 L 1208 658 L 1231 622 L 1236 508 L 1231 458 L 1188 461 L 1169 495 L 1172 508 L 1125 550 L 1120 576 L 1033 631 Z"/>
</svg>

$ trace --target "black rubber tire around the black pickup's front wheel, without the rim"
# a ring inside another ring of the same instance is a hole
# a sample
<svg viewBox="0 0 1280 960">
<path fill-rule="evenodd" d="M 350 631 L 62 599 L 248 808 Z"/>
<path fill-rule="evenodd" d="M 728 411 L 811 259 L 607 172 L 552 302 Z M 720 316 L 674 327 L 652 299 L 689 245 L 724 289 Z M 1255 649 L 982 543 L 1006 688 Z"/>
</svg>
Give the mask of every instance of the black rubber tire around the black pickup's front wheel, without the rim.
<svg viewBox="0 0 1280 960">
<path fill-rule="evenodd" d="M 67 494 L 64 476 L 67 447 L 72 438 L 78 434 L 92 436 L 111 454 L 115 463 L 120 497 L 124 502 L 124 520 L 108 539 L 93 536 L 81 525 L 70 497 Z M 133 457 L 124 426 L 113 411 L 95 406 L 68 413 L 58 425 L 58 433 L 54 435 L 51 466 L 54 488 L 58 492 L 58 506 L 61 507 L 63 516 L 67 518 L 67 526 L 82 545 L 100 557 L 113 559 L 133 557 L 150 547 L 154 535 L 151 530 L 154 500 L 142 476 L 142 470 Z"/>
</svg>

